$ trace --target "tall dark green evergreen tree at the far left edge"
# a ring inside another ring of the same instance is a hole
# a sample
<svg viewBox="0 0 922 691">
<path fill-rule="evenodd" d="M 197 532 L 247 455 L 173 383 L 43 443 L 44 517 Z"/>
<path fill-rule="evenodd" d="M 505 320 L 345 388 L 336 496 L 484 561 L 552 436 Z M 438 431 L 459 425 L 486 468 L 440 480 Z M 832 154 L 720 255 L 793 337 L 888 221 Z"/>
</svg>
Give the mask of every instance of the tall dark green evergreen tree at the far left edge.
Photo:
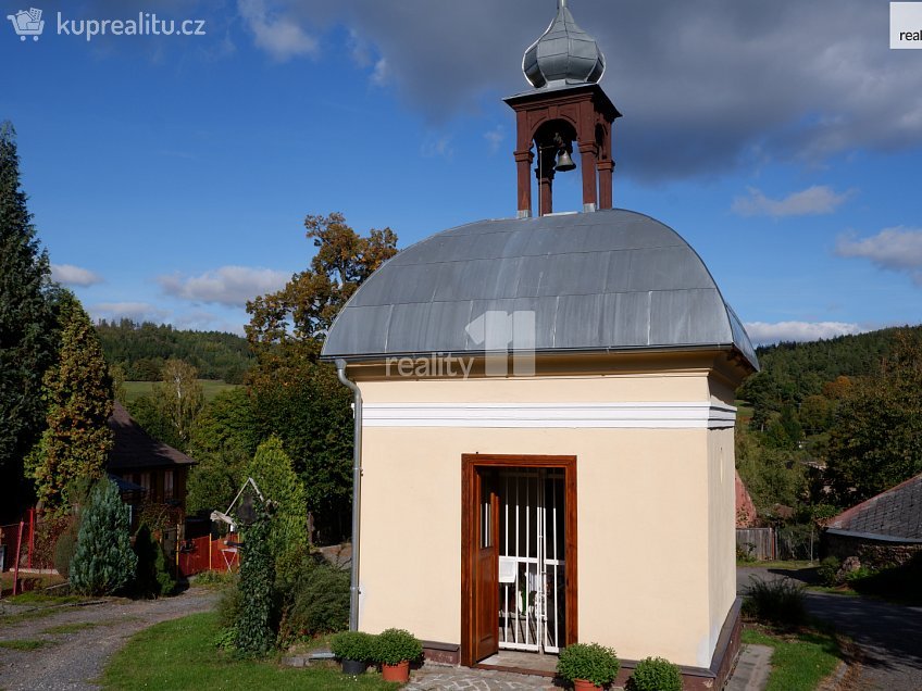
<svg viewBox="0 0 922 691">
<path fill-rule="evenodd" d="M 51 269 L 20 185 L 15 130 L 0 124 L 0 522 L 23 499 L 24 458 L 45 427 L 42 376 L 54 359 Z"/>
</svg>

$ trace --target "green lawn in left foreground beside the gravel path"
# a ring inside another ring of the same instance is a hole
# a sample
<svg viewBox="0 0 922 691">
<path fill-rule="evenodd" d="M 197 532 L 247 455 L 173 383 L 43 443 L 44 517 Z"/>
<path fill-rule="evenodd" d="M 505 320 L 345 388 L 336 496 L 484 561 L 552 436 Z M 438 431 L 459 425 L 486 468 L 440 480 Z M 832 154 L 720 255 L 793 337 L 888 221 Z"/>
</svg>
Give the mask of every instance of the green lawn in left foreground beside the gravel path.
<svg viewBox="0 0 922 691">
<path fill-rule="evenodd" d="M 134 636 L 102 675 L 104 689 L 221 689 L 230 691 L 338 691 L 397 689 L 377 674 L 347 677 L 338 668 L 283 667 L 273 662 L 233 659 L 219 652 L 217 614 L 194 614 L 158 624 Z M 144 661 L 142 665 L 138 661 Z"/>
</svg>

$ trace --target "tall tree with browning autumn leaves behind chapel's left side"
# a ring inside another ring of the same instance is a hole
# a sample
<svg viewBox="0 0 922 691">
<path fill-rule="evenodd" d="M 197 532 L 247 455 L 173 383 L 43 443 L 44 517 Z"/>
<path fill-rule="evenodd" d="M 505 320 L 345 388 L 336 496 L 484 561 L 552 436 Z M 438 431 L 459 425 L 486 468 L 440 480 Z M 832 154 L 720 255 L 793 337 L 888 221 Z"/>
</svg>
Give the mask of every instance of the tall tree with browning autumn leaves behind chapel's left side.
<svg viewBox="0 0 922 691">
<path fill-rule="evenodd" d="M 397 236 L 390 228 L 360 236 L 339 213 L 310 215 L 304 227 L 316 247 L 309 268 L 247 304 L 257 355 L 250 405 L 257 436 L 277 436 L 291 457 L 317 530 L 338 537 L 349 532 L 351 394 L 319 355 L 342 305 L 397 253 Z"/>
</svg>

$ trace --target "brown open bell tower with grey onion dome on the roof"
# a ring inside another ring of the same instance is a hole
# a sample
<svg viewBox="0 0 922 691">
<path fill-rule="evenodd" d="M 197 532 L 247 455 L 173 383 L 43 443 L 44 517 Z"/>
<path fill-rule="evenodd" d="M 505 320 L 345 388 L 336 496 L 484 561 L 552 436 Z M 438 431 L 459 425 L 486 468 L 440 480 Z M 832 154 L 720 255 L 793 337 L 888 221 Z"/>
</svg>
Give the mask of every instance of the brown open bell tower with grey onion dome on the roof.
<svg viewBox="0 0 922 691">
<path fill-rule="evenodd" d="M 532 164 L 538 180 L 537 215 L 553 212 L 553 178 L 576 167 L 583 174 L 583 211 L 611 209 L 611 125 L 621 113 L 598 85 L 605 55 L 558 0 L 557 17 L 522 59 L 534 87 L 503 99 L 515 111 L 518 216 L 532 215 Z"/>
</svg>

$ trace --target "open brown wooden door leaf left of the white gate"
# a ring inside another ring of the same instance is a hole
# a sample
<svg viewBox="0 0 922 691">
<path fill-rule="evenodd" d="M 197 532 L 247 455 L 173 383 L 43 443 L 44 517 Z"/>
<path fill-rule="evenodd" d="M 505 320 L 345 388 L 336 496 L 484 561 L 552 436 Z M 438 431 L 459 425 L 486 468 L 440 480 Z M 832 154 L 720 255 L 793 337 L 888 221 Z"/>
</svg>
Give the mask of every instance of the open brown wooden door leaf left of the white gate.
<svg viewBox="0 0 922 691">
<path fill-rule="evenodd" d="M 477 473 L 477 544 L 474 560 L 474 659 L 499 652 L 499 498 L 488 472 Z"/>
</svg>

